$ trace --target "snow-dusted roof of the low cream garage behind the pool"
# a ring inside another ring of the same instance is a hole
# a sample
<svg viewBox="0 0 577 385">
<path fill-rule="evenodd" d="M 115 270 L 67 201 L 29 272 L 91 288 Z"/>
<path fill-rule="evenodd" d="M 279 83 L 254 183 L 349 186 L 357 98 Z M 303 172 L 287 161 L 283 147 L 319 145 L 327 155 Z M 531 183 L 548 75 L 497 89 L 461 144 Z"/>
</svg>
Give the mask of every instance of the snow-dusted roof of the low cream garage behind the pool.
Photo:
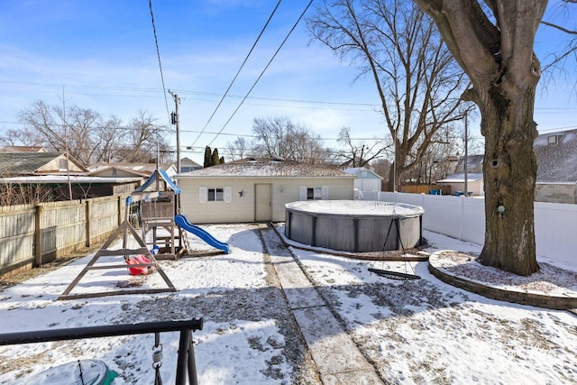
<svg viewBox="0 0 577 385">
<path fill-rule="evenodd" d="M 246 158 L 217 166 L 180 173 L 174 178 L 354 178 L 332 167 L 280 158 Z"/>
</svg>

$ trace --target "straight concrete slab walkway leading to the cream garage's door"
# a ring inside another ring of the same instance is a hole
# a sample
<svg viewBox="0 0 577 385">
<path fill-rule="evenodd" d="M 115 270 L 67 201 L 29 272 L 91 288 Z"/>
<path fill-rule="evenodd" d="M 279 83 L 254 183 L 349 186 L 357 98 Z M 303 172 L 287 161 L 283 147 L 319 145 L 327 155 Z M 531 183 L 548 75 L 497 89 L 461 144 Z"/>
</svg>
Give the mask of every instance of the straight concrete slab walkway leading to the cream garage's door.
<svg viewBox="0 0 577 385">
<path fill-rule="evenodd" d="M 261 234 L 323 384 L 383 383 L 275 230 L 262 226 Z"/>
</svg>

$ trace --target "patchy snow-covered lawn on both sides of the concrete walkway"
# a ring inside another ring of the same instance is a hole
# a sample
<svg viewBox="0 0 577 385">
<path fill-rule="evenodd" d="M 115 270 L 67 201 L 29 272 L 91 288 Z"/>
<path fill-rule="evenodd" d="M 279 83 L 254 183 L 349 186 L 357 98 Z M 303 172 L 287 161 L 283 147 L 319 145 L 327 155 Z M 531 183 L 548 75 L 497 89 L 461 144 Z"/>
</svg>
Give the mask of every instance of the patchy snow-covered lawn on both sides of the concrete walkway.
<svg viewBox="0 0 577 385">
<path fill-rule="evenodd" d="M 199 383 L 320 383 L 298 333 L 257 225 L 203 226 L 231 253 L 160 261 L 179 291 L 58 301 L 91 256 L 0 291 L 0 333 L 169 319 L 204 318 L 193 334 Z M 480 252 L 472 243 L 425 232 L 427 249 Z M 193 236 L 197 251 L 211 250 Z M 456 289 L 428 273 L 426 262 L 359 261 L 292 248 L 316 292 L 391 383 L 571 384 L 577 381 L 577 316 L 519 306 Z M 553 262 L 553 261 L 552 261 Z M 411 272 L 389 280 L 368 268 Z M 567 268 L 567 266 L 564 266 Z M 78 290 L 118 282 L 162 288 L 158 272 L 132 277 L 99 270 Z M 73 291 L 74 292 L 74 291 Z M 164 383 L 174 383 L 177 333 L 160 335 Z M 114 384 L 150 384 L 153 335 L 0 347 L 0 383 L 78 359 L 98 359 L 118 373 Z"/>
</svg>

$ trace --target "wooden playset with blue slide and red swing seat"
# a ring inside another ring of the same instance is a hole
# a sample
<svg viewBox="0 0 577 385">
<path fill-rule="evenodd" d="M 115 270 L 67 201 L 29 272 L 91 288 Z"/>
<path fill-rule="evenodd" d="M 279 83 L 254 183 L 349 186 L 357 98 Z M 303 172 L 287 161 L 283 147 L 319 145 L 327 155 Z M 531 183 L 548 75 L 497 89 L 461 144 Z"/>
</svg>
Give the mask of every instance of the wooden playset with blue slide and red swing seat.
<svg viewBox="0 0 577 385">
<path fill-rule="evenodd" d="M 125 294 L 154 294 L 174 292 L 169 277 L 160 267 L 159 260 L 174 260 L 188 254 L 188 233 L 228 253 L 229 245 L 220 242 L 206 230 L 192 225 L 179 212 L 180 188 L 165 170 L 155 170 L 140 188 L 126 198 L 124 222 L 118 226 L 87 266 L 80 271 L 58 299 L 97 298 Z M 135 210 L 133 210 L 135 208 Z M 131 212 L 133 213 L 131 215 Z M 135 227 L 140 225 L 141 234 Z M 122 247 L 113 249 L 113 243 L 122 236 Z M 133 247 L 133 244 L 136 244 Z M 99 262 L 99 260 L 103 260 Z M 127 282 L 117 282 L 115 289 L 97 292 L 72 293 L 89 271 L 124 269 L 130 275 L 149 274 L 156 271 L 166 285 L 159 289 L 129 288 Z"/>
</svg>

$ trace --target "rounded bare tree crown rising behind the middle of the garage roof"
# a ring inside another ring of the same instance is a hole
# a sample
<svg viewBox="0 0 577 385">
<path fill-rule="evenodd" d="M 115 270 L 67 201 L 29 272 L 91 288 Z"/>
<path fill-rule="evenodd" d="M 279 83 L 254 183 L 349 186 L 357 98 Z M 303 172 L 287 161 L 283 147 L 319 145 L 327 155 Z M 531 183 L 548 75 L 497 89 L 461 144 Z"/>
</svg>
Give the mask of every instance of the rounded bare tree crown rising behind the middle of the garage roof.
<svg viewBox="0 0 577 385">
<path fill-rule="evenodd" d="M 254 118 L 255 155 L 318 163 L 325 150 L 319 135 L 287 117 Z"/>
</svg>

